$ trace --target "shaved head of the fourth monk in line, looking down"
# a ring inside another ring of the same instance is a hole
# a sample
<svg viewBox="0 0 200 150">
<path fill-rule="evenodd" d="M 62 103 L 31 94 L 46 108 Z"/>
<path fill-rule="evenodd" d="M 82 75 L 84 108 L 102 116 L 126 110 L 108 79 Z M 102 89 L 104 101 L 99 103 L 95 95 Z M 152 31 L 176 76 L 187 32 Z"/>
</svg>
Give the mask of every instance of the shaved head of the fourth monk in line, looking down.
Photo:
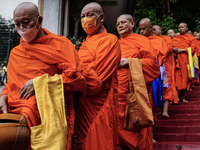
<svg viewBox="0 0 200 150">
<path fill-rule="evenodd" d="M 149 18 L 143 18 L 139 22 L 139 29 L 140 29 L 140 34 L 144 35 L 146 37 L 152 35 L 152 25 L 151 25 L 151 20 Z"/>
</svg>

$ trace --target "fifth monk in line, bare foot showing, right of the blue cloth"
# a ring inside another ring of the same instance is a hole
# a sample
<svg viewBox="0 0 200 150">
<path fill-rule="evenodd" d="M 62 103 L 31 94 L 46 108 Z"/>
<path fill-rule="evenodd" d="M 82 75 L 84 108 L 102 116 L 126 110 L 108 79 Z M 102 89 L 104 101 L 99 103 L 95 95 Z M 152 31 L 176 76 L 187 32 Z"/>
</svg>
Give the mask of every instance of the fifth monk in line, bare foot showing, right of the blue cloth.
<svg viewBox="0 0 200 150">
<path fill-rule="evenodd" d="M 178 103 L 178 93 L 176 90 L 176 84 L 174 80 L 174 71 L 175 71 L 175 66 L 174 66 L 174 57 L 173 57 L 173 43 L 172 39 L 169 36 L 162 35 L 162 30 L 161 27 L 158 25 L 153 26 L 152 32 L 161 38 L 165 40 L 167 43 L 169 52 L 167 54 L 166 62 L 165 64 L 165 69 L 167 71 L 167 79 L 168 79 L 168 88 L 163 87 L 163 101 L 164 101 L 164 108 L 163 108 L 163 116 L 169 117 L 168 113 L 168 107 L 169 107 L 169 102 L 173 102 L 175 104 Z"/>
</svg>

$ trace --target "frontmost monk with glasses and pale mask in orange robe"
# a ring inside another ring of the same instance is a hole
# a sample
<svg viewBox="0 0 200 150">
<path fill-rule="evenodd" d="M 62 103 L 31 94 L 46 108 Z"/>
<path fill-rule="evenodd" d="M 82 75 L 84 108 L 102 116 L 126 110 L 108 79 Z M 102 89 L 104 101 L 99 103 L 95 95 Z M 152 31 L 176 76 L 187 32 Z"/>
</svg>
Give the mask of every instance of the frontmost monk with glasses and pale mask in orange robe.
<svg viewBox="0 0 200 150">
<path fill-rule="evenodd" d="M 20 44 L 10 53 L 7 83 L 0 96 L 0 111 L 22 115 L 20 123 L 27 123 L 30 129 L 40 125 L 33 79 L 43 74 L 61 75 L 69 128 L 67 149 L 71 149 L 75 121 L 73 91 L 85 92 L 86 89 L 82 63 L 70 40 L 41 27 L 43 17 L 39 15 L 35 4 L 19 4 L 13 17 L 15 29 L 21 39 Z"/>
</svg>

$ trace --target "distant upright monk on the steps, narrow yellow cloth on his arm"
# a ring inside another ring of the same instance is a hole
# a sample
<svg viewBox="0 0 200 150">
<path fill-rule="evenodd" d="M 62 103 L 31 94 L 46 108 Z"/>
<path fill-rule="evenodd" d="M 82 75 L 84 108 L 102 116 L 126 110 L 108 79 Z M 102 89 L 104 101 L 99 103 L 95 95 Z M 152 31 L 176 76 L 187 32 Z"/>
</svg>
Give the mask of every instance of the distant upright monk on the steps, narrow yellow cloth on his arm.
<svg viewBox="0 0 200 150">
<path fill-rule="evenodd" d="M 196 49 L 196 41 L 194 36 L 186 34 L 188 30 L 186 23 L 179 24 L 179 33 L 180 35 L 173 38 L 173 51 L 178 55 L 179 67 L 175 69 L 175 81 L 176 88 L 180 91 L 180 101 L 187 103 L 185 99 L 185 94 L 187 87 L 190 85 L 191 81 L 188 80 L 188 70 L 187 64 L 188 61 L 188 50 L 187 48 L 191 47 L 192 53 Z"/>
</svg>

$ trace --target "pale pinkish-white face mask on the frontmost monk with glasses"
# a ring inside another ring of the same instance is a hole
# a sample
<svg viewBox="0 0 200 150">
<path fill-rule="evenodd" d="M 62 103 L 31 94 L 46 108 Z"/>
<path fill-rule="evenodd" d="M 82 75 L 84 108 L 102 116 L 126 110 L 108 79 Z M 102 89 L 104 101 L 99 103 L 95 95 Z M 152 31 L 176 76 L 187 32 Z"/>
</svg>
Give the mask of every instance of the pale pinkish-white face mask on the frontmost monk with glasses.
<svg viewBox="0 0 200 150">
<path fill-rule="evenodd" d="M 37 20 L 38 23 L 38 20 Z M 35 39 L 36 35 L 38 34 L 38 31 L 40 29 L 40 27 L 37 29 L 36 25 L 33 28 L 30 29 L 23 29 L 22 30 L 18 30 L 17 32 L 19 33 L 19 35 L 24 39 L 25 42 L 31 42 Z"/>
</svg>

